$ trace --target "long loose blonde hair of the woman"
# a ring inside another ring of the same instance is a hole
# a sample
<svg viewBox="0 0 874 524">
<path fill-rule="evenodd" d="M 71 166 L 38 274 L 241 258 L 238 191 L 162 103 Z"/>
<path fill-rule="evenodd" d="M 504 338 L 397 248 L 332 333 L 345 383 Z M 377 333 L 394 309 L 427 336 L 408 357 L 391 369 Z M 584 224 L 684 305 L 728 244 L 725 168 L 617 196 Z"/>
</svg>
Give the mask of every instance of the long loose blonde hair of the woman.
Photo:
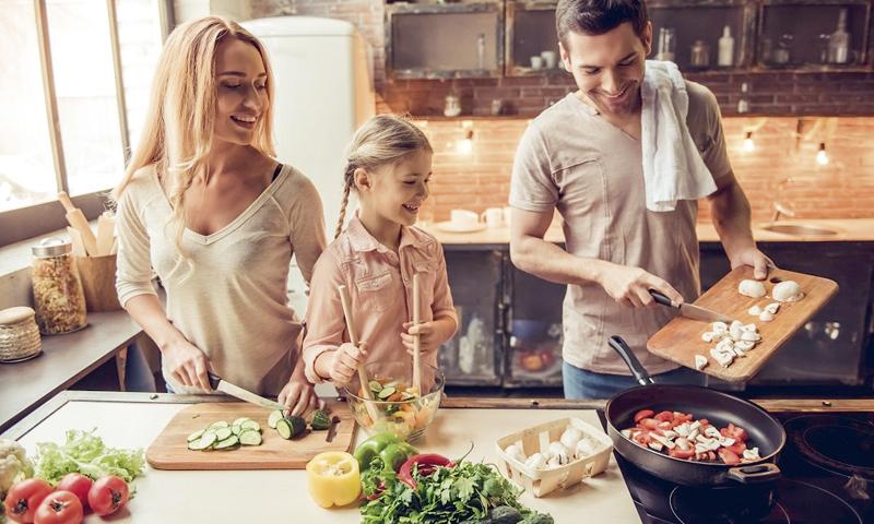
<svg viewBox="0 0 874 524">
<path fill-rule="evenodd" d="M 218 44 L 237 38 L 261 55 L 267 72 L 267 110 L 258 120 L 252 146 L 268 156 L 273 148 L 273 72 L 267 50 L 251 33 L 232 20 L 206 16 L 176 27 L 158 60 L 142 138 L 121 182 L 113 190 L 118 200 L 134 174 L 155 165 L 158 180 L 173 206 L 176 247 L 185 258 L 185 192 L 198 175 L 209 176 L 208 159 L 215 120 L 215 60 Z"/>
</svg>

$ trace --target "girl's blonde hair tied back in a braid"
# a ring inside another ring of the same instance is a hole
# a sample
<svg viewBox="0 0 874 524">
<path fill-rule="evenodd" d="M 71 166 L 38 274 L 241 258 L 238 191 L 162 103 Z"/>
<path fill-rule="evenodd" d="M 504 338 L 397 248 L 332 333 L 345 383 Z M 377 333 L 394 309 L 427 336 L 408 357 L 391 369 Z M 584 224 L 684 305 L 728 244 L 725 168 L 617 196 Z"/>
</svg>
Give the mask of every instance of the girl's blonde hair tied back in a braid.
<svg viewBox="0 0 874 524">
<path fill-rule="evenodd" d="M 334 238 L 343 233 L 349 194 L 355 187 L 355 169 L 373 171 L 387 164 L 394 164 L 415 151 L 434 152 L 425 133 L 405 117 L 377 115 L 358 128 L 346 152 L 343 200 L 340 203 L 340 219 Z"/>
</svg>

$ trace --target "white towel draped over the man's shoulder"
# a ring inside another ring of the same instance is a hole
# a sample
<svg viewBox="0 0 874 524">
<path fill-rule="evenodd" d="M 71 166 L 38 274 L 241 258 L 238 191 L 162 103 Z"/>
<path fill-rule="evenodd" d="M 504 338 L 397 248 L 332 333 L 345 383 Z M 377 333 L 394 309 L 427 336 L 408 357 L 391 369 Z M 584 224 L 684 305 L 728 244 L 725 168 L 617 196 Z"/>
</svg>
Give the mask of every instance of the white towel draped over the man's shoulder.
<svg viewBox="0 0 874 524">
<path fill-rule="evenodd" d="M 689 96 L 676 64 L 647 60 L 640 96 L 647 209 L 674 211 L 677 200 L 698 200 L 716 191 L 686 127 Z"/>
</svg>

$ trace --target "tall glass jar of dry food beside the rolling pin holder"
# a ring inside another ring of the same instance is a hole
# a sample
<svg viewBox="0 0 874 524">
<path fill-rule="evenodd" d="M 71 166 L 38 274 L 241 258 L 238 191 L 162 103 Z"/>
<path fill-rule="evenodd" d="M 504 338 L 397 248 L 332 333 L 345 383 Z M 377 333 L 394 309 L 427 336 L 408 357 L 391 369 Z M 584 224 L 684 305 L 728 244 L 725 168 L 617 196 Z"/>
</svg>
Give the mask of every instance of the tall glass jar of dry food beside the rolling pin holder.
<svg viewBox="0 0 874 524">
<path fill-rule="evenodd" d="M 85 295 L 75 269 L 72 245 L 59 238 L 32 248 L 34 307 L 39 331 L 46 335 L 70 333 L 87 324 Z"/>
</svg>

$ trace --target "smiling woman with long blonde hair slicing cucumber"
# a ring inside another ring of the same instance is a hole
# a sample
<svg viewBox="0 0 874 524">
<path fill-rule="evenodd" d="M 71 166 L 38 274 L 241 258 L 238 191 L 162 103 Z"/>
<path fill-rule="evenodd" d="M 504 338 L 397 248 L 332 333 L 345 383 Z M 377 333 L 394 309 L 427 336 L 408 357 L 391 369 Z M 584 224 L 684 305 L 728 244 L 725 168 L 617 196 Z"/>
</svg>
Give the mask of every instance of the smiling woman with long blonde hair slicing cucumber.
<svg viewBox="0 0 874 524">
<path fill-rule="evenodd" d="M 170 34 L 143 139 L 114 193 L 116 286 L 161 348 L 168 391 L 210 390 L 209 370 L 299 414 L 317 397 L 286 282 L 293 254 L 309 281 L 324 225 L 314 184 L 273 158 L 272 84 L 262 45 L 232 21 Z"/>
</svg>

